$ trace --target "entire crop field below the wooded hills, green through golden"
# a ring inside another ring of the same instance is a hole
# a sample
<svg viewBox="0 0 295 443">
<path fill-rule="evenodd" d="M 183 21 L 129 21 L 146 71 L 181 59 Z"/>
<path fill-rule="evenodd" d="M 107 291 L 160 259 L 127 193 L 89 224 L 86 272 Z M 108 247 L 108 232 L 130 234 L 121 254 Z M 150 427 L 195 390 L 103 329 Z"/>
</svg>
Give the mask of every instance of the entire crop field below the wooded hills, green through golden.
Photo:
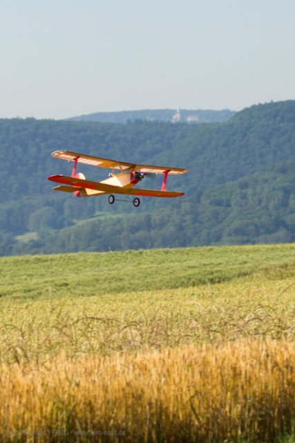
<svg viewBox="0 0 295 443">
<path fill-rule="evenodd" d="M 1 257 L 1 441 L 292 442 L 294 275 L 294 244 Z"/>
</svg>

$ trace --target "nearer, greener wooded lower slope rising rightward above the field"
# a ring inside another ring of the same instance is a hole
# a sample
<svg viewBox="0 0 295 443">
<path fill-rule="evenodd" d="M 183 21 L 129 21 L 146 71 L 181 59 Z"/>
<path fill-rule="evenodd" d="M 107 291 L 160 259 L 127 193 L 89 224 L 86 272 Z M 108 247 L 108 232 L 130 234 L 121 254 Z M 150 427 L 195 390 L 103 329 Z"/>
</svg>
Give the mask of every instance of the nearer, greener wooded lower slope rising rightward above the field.
<svg viewBox="0 0 295 443">
<path fill-rule="evenodd" d="M 295 161 L 283 162 L 281 168 L 284 174 L 270 170 L 211 186 L 161 210 L 100 215 L 76 226 L 50 230 L 44 233 L 42 251 L 294 242 Z M 39 251 L 38 244 L 30 241 L 26 253 Z M 17 253 L 19 245 L 13 251 Z"/>
</svg>

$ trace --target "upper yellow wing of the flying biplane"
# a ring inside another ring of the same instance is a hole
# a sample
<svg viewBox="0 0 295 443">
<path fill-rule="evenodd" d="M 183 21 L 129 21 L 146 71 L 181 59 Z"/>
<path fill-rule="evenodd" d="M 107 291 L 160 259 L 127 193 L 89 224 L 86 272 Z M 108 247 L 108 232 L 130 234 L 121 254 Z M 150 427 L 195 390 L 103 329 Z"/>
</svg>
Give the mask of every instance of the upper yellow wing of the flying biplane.
<svg viewBox="0 0 295 443">
<path fill-rule="evenodd" d="M 75 161 L 75 159 L 78 159 L 77 163 L 83 163 L 84 165 L 99 166 L 99 168 L 111 168 L 126 172 L 140 170 L 145 174 L 147 172 L 151 174 L 164 174 L 164 172 L 169 171 L 169 174 L 183 174 L 188 171 L 183 168 L 164 168 L 163 166 L 138 165 L 137 163 L 126 163 L 125 161 L 100 159 L 99 157 L 70 151 L 55 151 L 51 155 L 57 159 L 67 161 Z"/>
</svg>

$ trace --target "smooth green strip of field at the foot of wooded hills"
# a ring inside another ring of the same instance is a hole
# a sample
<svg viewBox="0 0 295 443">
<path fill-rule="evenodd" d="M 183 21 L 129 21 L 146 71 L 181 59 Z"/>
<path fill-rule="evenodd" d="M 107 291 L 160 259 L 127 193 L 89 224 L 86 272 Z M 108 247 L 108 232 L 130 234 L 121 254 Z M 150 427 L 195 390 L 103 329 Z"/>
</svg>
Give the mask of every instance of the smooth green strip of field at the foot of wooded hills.
<svg viewBox="0 0 295 443">
<path fill-rule="evenodd" d="M 150 251 L 0 257 L 0 296 L 50 295 L 193 287 L 260 271 L 269 278 L 295 264 L 295 244 L 175 248 Z"/>
</svg>

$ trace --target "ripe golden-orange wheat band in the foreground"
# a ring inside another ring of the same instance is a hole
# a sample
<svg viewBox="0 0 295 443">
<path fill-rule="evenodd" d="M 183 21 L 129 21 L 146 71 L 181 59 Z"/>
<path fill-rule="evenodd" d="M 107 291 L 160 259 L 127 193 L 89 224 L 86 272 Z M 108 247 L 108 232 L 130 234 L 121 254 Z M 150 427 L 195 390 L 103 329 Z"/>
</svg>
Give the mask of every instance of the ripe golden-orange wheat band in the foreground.
<svg viewBox="0 0 295 443">
<path fill-rule="evenodd" d="M 2 438 L 86 441 L 123 431 L 126 442 L 270 441 L 294 419 L 294 356 L 294 342 L 247 338 L 2 365 Z"/>
</svg>

